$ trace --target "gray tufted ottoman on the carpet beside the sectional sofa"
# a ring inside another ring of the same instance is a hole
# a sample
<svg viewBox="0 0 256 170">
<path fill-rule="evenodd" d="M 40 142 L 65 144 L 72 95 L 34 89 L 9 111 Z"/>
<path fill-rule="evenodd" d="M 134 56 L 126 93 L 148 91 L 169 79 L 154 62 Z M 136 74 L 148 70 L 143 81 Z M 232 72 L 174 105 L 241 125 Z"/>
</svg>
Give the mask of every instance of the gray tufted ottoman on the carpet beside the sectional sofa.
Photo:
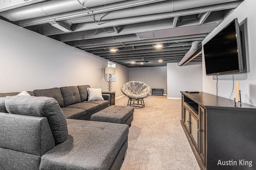
<svg viewBox="0 0 256 170">
<path fill-rule="evenodd" d="M 111 105 L 91 116 L 91 121 L 131 125 L 134 107 Z"/>
</svg>

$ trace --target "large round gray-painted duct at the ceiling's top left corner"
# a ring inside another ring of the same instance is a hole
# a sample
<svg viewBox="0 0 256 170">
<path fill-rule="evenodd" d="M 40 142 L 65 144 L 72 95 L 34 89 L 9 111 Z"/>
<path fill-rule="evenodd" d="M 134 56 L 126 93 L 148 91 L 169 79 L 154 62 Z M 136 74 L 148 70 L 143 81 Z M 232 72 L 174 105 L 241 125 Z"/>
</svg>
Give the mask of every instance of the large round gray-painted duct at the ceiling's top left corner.
<svg viewBox="0 0 256 170">
<path fill-rule="evenodd" d="M 82 10 L 94 6 L 112 4 L 124 0 L 50 0 L 29 6 L 23 6 L 1 12 L 0 15 L 10 21 L 26 20 L 42 16 L 50 16 L 64 12 Z"/>
</svg>

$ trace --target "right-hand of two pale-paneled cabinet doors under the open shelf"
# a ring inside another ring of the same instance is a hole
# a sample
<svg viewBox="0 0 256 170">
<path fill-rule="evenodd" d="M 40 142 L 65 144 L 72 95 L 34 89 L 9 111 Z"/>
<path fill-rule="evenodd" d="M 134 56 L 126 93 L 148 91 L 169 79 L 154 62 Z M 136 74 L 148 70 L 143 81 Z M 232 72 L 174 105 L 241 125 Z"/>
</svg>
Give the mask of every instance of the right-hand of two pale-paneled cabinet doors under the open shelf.
<svg viewBox="0 0 256 170">
<path fill-rule="evenodd" d="M 198 117 L 192 111 L 190 111 L 190 137 L 198 151 Z"/>
</svg>

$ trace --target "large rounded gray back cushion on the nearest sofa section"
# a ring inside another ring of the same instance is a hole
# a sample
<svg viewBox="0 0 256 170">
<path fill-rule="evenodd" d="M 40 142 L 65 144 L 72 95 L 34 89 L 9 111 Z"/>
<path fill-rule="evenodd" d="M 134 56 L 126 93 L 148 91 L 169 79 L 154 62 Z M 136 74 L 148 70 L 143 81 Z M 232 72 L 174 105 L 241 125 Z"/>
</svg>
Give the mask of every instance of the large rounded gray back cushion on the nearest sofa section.
<svg viewBox="0 0 256 170">
<path fill-rule="evenodd" d="M 6 110 L 12 114 L 46 117 L 55 144 L 64 142 L 68 137 L 65 116 L 58 102 L 51 97 L 12 96 L 5 101 Z"/>
</svg>

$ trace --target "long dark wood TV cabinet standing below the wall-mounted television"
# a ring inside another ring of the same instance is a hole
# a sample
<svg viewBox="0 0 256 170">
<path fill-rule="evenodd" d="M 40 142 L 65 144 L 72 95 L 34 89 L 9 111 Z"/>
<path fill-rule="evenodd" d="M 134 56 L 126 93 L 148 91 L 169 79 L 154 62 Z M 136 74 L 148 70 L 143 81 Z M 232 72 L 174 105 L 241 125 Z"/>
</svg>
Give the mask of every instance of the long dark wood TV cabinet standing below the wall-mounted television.
<svg viewBox="0 0 256 170">
<path fill-rule="evenodd" d="M 181 93 L 181 125 L 200 168 L 254 169 L 256 107 L 203 92 Z"/>
</svg>

